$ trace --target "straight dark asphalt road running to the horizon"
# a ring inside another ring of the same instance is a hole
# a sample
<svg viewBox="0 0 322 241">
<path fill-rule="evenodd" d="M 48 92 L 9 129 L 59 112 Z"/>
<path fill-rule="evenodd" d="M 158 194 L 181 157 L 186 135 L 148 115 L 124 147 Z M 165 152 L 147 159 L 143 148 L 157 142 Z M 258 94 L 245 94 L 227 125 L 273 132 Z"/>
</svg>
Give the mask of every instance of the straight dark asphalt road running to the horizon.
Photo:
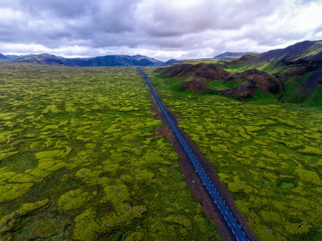
<svg viewBox="0 0 322 241">
<path fill-rule="evenodd" d="M 185 153 L 187 157 L 190 159 L 192 164 L 194 165 L 195 170 L 198 172 L 201 180 L 203 181 L 203 184 L 207 188 L 209 194 L 213 198 L 214 203 L 216 204 L 218 210 L 222 214 L 223 219 L 226 221 L 226 224 L 229 226 L 231 230 L 231 235 L 236 237 L 236 240 L 239 241 L 249 241 L 247 238 L 245 232 L 242 230 L 241 225 L 238 224 L 236 218 L 234 215 L 230 212 L 229 208 L 227 207 L 224 199 L 222 198 L 221 194 L 218 192 L 217 188 L 214 187 L 213 182 L 208 177 L 206 171 L 204 170 L 203 166 L 200 164 L 198 159 L 196 158 L 195 154 L 191 150 L 190 146 L 187 144 L 187 141 L 182 136 L 181 132 L 179 131 L 179 128 L 176 126 L 175 122 L 171 119 L 170 115 L 168 114 L 166 108 L 163 106 L 162 102 L 156 95 L 154 89 L 152 88 L 151 84 L 148 81 L 147 76 L 145 73 L 140 69 L 137 68 L 138 71 L 141 73 L 141 75 L 144 77 L 147 85 L 149 86 L 152 95 L 154 96 L 157 104 L 159 105 L 160 109 L 162 110 L 163 114 L 165 115 L 170 128 L 172 129 L 174 135 L 180 142 L 182 148 L 185 150 Z"/>
</svg>

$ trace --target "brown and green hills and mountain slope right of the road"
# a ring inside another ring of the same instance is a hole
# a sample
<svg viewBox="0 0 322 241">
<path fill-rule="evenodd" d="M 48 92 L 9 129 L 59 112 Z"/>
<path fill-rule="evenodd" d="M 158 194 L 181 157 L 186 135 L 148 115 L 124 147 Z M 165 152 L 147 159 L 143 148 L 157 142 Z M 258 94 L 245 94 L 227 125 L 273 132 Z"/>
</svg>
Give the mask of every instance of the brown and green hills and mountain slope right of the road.
<svg viewBox="0 0 322 241">
<path fill-rule="evenodd" d="M 234 61 L 186 61 L 156 72 L 171 89 L 322 108 L 322 41 L 245 54 Z"/>
</svg>

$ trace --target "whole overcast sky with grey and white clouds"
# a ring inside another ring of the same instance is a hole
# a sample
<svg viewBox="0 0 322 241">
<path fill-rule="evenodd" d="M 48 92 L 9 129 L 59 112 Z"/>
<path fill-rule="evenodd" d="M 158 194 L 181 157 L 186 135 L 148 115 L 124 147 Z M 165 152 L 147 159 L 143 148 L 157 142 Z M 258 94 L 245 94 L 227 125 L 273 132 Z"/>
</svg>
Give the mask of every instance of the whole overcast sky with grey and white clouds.
<svg viewBox="0 0 322 241">
<path fill-rule="evenodd" d="M 322 40 L 322 0 L 0 0 L 0 53 L 157 60 Z"/>
</svg>

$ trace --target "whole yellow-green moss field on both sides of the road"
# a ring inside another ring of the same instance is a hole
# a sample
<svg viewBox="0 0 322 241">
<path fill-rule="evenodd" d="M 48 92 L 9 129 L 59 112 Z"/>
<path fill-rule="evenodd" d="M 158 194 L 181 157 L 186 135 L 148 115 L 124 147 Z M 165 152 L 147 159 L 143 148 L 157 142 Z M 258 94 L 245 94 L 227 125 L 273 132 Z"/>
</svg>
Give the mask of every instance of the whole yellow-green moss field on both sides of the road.
<svg viewBox="0 0 322 241">
<path fill-rule="evenodd" d="M 0 68 L 1 240 L 221 239 L 136 68 Z M 162 93 L 257 234 L 320 232 L 321 114 Z"/>
</svg>

